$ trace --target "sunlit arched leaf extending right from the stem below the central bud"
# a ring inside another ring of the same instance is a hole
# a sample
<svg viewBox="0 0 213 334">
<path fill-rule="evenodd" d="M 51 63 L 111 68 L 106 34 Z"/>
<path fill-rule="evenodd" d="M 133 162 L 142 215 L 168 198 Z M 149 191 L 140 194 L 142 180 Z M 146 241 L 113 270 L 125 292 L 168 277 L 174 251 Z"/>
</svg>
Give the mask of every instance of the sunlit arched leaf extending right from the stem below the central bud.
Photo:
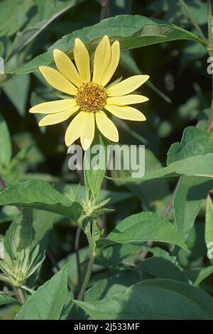
<svg viewBox="0 0 213 334">
<path fill-rule="evenodd" d="M 119 222 L 106 239 L 99 240 L 100 246 L 108 244 L 126 244 L 129 242 L 168 242 L 178 244 L 187 250 L 182 237 L 173 225 L 164 217 L 153 212 L 140 212 Z"/>
</svg>

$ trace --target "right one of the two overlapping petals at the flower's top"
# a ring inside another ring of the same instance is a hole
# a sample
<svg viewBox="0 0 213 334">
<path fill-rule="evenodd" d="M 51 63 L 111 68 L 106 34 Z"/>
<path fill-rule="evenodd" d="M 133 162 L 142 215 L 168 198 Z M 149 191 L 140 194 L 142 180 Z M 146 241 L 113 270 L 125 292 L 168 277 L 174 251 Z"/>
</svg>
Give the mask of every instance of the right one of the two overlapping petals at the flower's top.
<svg viewBox="0 0 213 334">
<path fill-rule="evenodd" d="M 120 44 L 119 41 L 115 41 L 111 45 L 111 60 L 109 63 L 109 68 L 107 68 L 107 71 L 103 75 L 102 81 L 100 82 L 102 86 L 107 85 L 111 77 L 114 75 L 114 72 L 119 65 L 119 59 L 120 59 Z"/>
</svg>

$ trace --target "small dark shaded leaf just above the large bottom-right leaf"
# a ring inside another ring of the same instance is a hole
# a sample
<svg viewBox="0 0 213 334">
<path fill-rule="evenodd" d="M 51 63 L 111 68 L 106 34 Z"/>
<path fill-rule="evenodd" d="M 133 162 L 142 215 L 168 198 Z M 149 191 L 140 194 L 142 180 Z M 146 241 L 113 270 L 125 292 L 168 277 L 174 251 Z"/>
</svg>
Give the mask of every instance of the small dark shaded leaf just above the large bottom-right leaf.
<svg viewBox="0 0 213 334">
<path fill-rule="evenodd" d="M 180 266 L 162 257 L 150 257 L 145 259 L 139 264 L 139 267 L 159 279 L 174 279 L 175 281 L 184 283 L 188 282 Z"/>
</svg>

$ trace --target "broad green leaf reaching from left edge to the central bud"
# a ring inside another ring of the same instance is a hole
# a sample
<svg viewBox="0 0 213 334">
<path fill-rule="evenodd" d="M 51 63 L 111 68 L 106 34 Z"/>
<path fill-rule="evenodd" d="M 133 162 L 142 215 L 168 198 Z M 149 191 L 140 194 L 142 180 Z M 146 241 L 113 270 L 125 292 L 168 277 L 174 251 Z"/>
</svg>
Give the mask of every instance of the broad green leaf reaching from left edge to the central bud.
<svg viewBox="0 0 213 334">
<path fill-rule="evenodd" d="M 73 220 L 77 220 L 82 210 L 78 203 L 64 197 L 52 185 L 39 179 L 9 186 L 0 193 L 0 205 L 18 205 L 55 212 Z"/>
</svg>

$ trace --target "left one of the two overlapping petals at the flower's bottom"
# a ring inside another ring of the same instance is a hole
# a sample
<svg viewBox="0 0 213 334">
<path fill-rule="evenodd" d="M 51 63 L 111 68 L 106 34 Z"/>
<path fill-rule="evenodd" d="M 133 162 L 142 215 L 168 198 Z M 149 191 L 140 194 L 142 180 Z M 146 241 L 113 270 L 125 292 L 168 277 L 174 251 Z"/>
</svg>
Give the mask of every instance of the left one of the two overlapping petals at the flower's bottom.
<svg viewBox="0 0 213 334">
<path fill-rule="evenodd" d="M 81 129 L 84 126 L 84 112 L 80 112 L 72 119 L 65 133 L 65 144 L 70 146 L 76 139 L 80 137 Z"/>
</svg>

